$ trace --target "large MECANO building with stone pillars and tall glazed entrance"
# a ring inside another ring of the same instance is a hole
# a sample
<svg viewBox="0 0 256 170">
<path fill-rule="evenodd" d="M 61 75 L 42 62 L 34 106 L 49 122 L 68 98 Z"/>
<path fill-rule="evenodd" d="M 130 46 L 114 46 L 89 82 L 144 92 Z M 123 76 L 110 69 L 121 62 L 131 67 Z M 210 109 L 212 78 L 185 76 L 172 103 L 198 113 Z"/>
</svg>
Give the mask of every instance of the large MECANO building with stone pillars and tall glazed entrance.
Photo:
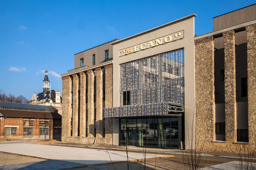
<svg viewBox="0 0 256 170">
<path fill-rule="evenodd" d="M 205 35 L 192 14 L 76 54 L 61 75 L 62 141 L 232 151 L 255 140 L 255 7 Z"/>
</svg>

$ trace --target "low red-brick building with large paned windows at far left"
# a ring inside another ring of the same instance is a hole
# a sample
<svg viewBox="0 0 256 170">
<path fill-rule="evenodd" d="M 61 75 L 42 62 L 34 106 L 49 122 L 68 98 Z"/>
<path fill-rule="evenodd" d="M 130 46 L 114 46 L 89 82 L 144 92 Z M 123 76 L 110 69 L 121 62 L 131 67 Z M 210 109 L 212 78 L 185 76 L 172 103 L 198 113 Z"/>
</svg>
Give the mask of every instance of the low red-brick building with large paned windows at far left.
<svg viewBox="0 0 256 170">
<path fill-rule="evenodd" d="M 61 138 L 61 115 L 52 106 L 0 102 L 0 140 Z"/>
</svg>

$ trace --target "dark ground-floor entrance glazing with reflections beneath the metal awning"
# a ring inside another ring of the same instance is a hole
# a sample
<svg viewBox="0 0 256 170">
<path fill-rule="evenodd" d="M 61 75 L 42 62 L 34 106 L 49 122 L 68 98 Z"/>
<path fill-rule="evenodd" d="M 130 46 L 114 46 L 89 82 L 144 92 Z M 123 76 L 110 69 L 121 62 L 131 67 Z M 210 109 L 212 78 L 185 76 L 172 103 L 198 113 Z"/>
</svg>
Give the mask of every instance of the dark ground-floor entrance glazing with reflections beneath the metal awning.
<svg viewBox="0 0 256 170">
<path fill-rule="evenodd" d="M 178 148 L 178 118 L 120 119 L 120 145 Z"/>
</svg>

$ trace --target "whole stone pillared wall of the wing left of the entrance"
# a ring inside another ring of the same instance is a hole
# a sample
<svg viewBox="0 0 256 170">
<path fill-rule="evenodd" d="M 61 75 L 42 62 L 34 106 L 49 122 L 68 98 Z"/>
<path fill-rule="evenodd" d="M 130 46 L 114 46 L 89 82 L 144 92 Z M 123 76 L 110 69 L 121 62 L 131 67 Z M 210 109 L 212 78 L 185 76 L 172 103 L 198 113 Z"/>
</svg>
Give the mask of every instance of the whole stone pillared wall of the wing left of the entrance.
<svg viewBox="0 0 256 170">
<path fill-rule="evenodd" d="M 112 64 L 105 66 L 105 107 L 112 107 Z M 102 68 L 95 68 L 96 74 L 96 105 L 94 107 L 94 70 L 87 70 L 88 86 L 86 89 L 86 73 L 80 72 L 80 125 L 78 127 L 78 75 L 73 74 L 73 135 L 70 136 L 71 128 L 71 85 L 70 76 L 63 77 L 63 120 L 62 120 L 62 141 L 81 144 L 102 144 L 112 145 L 112 119 L 105 119 L 105 138 L 103 135 L 103 72 Z M 86 90 L 88 92 L 87 102 L 87 124 L 86 124 Z M 69 105 L 70 104 L 70 105 Z M 65 108 L 65 110 L 64 110 Z M 96 108 L 96 138 L 94 137 L 94 108 Z M 64 122 L 65 120 L 65 122 Z M 87 137 L 86 137 L 87 127 Z M 76 129 L 80 129 L 77 135 Z M 69 130 L 69 131 L 68 131 Z M 69 135 L 68 135 L 69 134 Z"/>
</svg>

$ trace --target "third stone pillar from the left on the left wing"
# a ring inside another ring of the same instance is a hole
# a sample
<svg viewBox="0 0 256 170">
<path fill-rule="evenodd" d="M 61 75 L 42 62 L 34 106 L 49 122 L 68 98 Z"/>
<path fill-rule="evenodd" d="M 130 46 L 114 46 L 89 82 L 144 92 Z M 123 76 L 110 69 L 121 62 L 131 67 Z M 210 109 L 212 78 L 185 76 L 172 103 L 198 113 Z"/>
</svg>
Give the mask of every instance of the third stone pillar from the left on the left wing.
<svg viewBox="0 0 256 170">
<path fill-rule="evenodd" d="M 80 136 L 85 137 L 86 131 L 86 76 L 80 72 Z"/>
</svg>

